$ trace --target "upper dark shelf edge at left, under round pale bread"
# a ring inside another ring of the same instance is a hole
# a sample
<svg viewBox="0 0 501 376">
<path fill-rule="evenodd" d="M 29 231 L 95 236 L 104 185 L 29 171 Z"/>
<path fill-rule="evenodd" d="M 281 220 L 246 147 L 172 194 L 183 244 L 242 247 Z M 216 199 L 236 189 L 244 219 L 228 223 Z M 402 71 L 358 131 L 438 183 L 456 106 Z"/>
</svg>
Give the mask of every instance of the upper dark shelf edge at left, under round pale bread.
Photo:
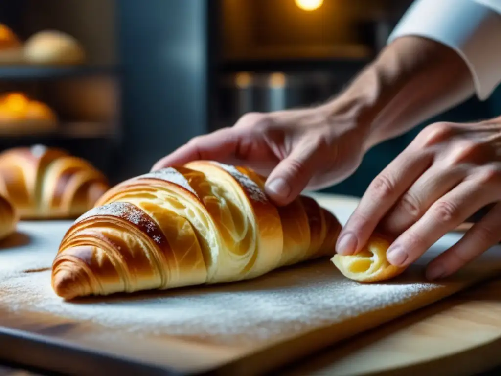
<svg viewBox="0 0 501 376">
<path fill-rule="evenodd" d="M 0 65 L 0 80 L 57 79 L 92 75 L 115 75 L 116 66 L 32 66 Z"/>
</svg>

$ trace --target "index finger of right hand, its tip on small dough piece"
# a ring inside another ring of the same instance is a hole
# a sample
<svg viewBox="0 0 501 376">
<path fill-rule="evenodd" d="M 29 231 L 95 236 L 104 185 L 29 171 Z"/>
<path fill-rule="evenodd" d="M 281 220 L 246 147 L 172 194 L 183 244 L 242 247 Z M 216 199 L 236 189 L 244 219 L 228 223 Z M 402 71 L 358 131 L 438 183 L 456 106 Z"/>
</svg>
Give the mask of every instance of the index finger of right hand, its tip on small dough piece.
<svg viewBox="0 0 501 376">
<path fill-rule="evenodd" d="M 388 210 L 431 161 L 431 154 L 406 149 L 376 176 L 344 226 L 336 252 L 350 255 L 360 251 Z"/>
</svg>

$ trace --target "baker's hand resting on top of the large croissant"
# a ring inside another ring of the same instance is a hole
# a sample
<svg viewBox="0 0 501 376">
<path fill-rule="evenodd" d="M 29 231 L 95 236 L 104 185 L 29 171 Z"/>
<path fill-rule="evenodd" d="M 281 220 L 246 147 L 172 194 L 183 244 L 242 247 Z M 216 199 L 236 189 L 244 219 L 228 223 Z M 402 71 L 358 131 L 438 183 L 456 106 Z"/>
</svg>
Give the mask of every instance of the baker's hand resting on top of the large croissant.
<svg viewBox="0 0 501 376">
<path fill-rule="evenodd" d="M 365 134 L 349 106 L 340 104 L 249 113 L 229 128 L 191 139 L 153 170 L 196 159 L 246 165 L 268 176 L 265 189 L 278 205 L 304 189 L 320 189 L 359 166 Z"/>
</svg>

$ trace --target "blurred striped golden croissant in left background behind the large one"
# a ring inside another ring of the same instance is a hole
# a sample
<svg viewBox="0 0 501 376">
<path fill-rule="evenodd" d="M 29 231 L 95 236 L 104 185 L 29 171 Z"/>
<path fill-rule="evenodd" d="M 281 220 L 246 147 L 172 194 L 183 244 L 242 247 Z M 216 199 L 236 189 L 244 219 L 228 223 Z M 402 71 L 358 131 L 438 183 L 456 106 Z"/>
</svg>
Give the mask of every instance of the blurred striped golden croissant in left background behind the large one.
<svg viewBox="0 0 501 376">
<path fill-rule="evenodd" d="M 0 194 L 20 218 L 77 218 L 91 209 L 109 185 L 86 160 L 43 145 L 0 153 Z"/>
</svg>

